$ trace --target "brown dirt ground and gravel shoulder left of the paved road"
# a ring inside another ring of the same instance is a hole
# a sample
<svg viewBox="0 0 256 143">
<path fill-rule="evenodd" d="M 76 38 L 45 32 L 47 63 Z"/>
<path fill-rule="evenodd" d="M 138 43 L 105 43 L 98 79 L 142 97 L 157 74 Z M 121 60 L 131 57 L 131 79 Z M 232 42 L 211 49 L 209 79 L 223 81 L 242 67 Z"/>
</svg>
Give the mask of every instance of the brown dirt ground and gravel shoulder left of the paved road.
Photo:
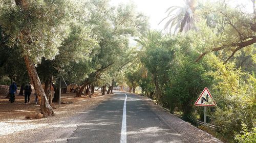
<svg viewBox="0 0 256 143">
<path fill-rule="evenodd" d="M 61 126 L 61 124 L 67 125 L 67 121 L 69 121 L 68 123 L 75 123 L 76 120 L 79 120 L 72 119 L 76 114 L 94 108 L 102 100 L 113 95 L 101 96 L 96 93 L 93 98 L 90 99 L 88 97 L 74 98 L 74 93 L 63 94 L 61 101 L 73 101 L 73 104 L 61 104 L 61 107 L 58 108 L 58 105 L 54 103 L 53 106 L 56 107 L 56 109 L 54 109 L 54 117 L 33 120 L 25 119 L 25 116 L 29 113 L 40 112 L 39 105 L 34 102 L 33 94 L 31 95 L 30 104 L 26 105 L 24 104 L 24 96 L 16 96 L 14 103 L 10 103 L 8 99 L 4 99 L 5 96 L 6 95 L 0 95 L 0 142 L 23 142 L 22 140 L 26 134 L 29 136 L 30 134 L 44 130 L 47 130 L 48 136 L 56 136 L 55 130 L 51 132 L 49 126 L 53 129 L 54 126 Z M 67 129 L 72 128 L 66 128 L 66 130 Z M 40 139 L 38 138 L 38 140 Z M 44 139 L 42 138 L 42 140 Z M 26 142 L 26 139 L 24 142 Z"/>
</svg>

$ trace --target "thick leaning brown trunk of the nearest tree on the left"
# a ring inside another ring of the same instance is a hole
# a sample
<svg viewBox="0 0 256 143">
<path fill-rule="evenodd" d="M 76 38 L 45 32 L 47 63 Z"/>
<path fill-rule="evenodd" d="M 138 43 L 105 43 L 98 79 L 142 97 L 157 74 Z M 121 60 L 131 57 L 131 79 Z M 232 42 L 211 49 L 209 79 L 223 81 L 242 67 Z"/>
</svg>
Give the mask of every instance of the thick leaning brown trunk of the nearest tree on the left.
<svg viewBox="0 0 256 143">
<path fill-rule="evenodd" d="M 35 65 L 30 61 L 28 56 L 25 56 L 24 60 L 26 63 L 29 77 L 35 88 L 35 93 L 39 96 L 39 103 L 42 114 L 44 114 L 45 117 L 54 116 L 54 111 L 47 100 L 44 89 L 42 89 L 42 84 L 35 69 Z"/>
</svg>

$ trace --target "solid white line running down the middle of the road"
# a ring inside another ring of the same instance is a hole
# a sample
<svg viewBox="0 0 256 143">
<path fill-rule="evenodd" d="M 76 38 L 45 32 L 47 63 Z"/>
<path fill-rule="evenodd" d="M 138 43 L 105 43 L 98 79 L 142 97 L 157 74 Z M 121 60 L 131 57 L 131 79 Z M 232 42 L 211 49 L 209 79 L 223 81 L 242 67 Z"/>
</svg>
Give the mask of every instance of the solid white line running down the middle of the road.
<svg viewBox="0 0 256 143">
<path fill-rule="evenodd" d="M 121 139 L 120 143 L 126 143 L 126 99 L 127 95 L 125 95 L 124 103 L 123 103 L 123 121 L 122 121 L 122 130 L 121 130 Z"/>
</svg>

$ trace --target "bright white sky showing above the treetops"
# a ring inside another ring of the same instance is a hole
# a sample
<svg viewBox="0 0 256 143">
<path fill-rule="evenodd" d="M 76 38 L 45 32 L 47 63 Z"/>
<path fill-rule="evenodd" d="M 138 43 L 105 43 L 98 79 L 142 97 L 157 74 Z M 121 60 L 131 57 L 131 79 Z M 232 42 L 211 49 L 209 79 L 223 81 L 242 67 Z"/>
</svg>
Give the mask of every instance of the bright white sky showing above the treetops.
<svg viewBox="0 0 256 143">
<path fill-rule="evenodd" d="M 250 0 L 231 0 L 232 4 L 244 4 L 248 6 L 248 11 L 252 11 Z M 150 17 L 151 28 L 163 30 L 166 21 L 160 25 L 158 23 L 166 16 L 165 11 L 171 6 L 182 6 L 183 0 L 111 0 L 111 5 L 117 6 L 120 3 L 133 3 L 137 6 L 137 11 L 143 12 Z M 249 3 L 249 5 L 248 5 Z"/>
</svg>

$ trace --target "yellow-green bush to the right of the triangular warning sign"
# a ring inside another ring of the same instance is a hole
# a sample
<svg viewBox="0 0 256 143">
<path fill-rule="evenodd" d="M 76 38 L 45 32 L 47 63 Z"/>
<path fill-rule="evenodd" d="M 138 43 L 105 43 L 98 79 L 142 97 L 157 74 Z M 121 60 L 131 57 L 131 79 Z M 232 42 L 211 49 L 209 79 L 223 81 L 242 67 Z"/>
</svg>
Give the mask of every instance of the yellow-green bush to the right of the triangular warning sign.
<svg viewBox="0 0 256 143">
<path fill-rule="evenodd" d="M 208 61 L 214 68 L 207 74 L 214 77 L 212 95 L 218 104 L 213 112 L 213 121 L 217 131 L 228 139 L 234 141 L 234 136 L 244 130 L 251 131 L 256 125 L 255 120 L 255 78 L 247 72 L 237 69 L 234 63 L 223 65 L 216 56 L 210 56 Z"/>
</svg>

